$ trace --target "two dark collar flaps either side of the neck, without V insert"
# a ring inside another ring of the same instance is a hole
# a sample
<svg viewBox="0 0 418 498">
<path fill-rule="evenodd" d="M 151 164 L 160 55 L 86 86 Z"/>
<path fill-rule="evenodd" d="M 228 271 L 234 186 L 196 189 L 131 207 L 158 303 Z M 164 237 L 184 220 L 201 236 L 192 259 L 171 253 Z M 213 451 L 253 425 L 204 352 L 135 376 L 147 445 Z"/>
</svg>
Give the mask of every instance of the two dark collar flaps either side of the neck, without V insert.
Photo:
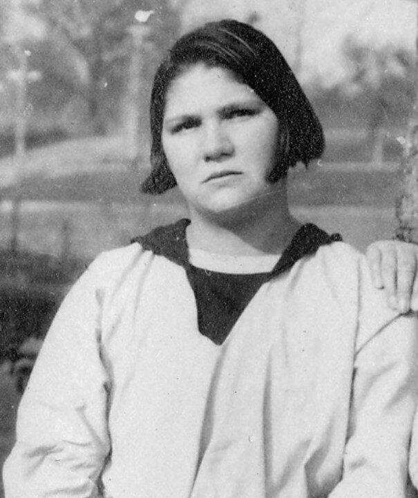
<svg viewBox="0 0 418 498">
<path fill-rule="evenodd" d="M 134 238 L 131 242 L 138 242 L 142 245 L 142 249 L 152 251 L 158 256 L 164 256 L 177 265 L 188 269 L 190 263 L 186 228 L 189 224 L 190 220 L 183 218 L 173 224 L 155 228 L 144 236 Z M 270 275 L 276 276 L 291 268 L 303 256 L 315 253 L 322 245 L 340 240 L 342 239 L 339 233 L 328 235 L 315 224 L 306 223 L 295 233 Z"/>
</svg>

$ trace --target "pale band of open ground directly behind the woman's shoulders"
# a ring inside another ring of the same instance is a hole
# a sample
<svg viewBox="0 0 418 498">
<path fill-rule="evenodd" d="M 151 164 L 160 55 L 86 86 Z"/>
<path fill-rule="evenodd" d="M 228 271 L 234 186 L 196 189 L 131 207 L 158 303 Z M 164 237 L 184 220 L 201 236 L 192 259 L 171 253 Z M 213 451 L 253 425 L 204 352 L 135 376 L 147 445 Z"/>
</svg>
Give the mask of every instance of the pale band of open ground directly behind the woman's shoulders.
<svg viewBox="0 0 418 498">
<path fill-rule="evenodd" d="M 62 227 L 66 220 L 70 251 L 91 260 L 100 251 L 129 243 L 140 233 L 146 233 L 158 224 L 180 218 L 185 211 L 181 207 L 151 209 L 114 205 L 108 209 L 92 205 L 76 204 L 66 209 L 50 206 L 50 211 L 37 212 L 23 208 L 19 243 L 25 249 L 59 256 L 62 251 Z M 6 211 L 6 210 L 5 210 Z M 0 238 L 6 246 L 10 240 L 10 216 L 0 212 Z M 341 231 L 343 236 L 359 249 L 365 249 L 373 240 L 388 238 L 395 227 L 393 207 L 367 205 L 346 206 L 340 204 L 294 205 L 295 216 L 316 222 L 323 229 Z"/>
</svg>

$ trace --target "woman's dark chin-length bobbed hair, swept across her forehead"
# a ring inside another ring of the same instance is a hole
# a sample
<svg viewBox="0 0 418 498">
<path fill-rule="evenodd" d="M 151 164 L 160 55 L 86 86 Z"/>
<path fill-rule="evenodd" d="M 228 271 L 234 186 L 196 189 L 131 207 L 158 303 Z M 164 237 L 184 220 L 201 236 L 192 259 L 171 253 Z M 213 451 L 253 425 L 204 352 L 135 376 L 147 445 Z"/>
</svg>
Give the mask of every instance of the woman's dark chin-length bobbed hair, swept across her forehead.
<svg viewBox="0 0 418 498">
<path fill-rule="evenodd" d="M 142 191 L 164 193 L 176 185 L 162 149 L 165 98 L 173 79 L 199 63 L 231 71 L 278 117 L 281 155 L 267 180 L 276 182 L 296 162 L 307 165 L 321 157 L 325 147 L 321 123 L 272 40 L 240 21 L 213 21 L 178 39 L 155 73 L 150 107 L 151 174 Z"/>
</svg>

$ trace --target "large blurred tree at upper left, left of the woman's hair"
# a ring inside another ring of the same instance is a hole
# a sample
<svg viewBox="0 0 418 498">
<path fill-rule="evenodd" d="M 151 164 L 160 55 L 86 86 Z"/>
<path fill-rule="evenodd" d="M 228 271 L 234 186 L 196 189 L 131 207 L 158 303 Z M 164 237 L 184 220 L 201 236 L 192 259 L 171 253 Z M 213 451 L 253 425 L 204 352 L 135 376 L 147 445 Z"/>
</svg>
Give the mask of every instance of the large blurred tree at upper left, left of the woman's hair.
<svg viewBox="0 0 418 498">
<path fill-rule="evenodd" d="M 93 131 L 104 134 L 126 84 L 131 32 L 139 10 L 154 10 L 153 52 L 161 52 L 178 31 L 178 15 L 169 0 L 40 0 L 28 10 L 48 26 L 39 59 L 46 75 L 82 95 Z"/>
</svg>

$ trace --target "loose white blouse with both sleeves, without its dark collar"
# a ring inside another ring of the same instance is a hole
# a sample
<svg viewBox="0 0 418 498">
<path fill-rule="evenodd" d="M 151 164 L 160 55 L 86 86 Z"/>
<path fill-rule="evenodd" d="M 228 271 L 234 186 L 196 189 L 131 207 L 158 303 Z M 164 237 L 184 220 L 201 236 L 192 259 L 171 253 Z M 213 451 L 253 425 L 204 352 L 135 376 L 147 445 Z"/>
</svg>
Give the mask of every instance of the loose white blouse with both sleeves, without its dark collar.
<svg viewBox="0 0 418 498">
<path fill-rule="evenodd" d="M 183 267 L 103 253 L 39 354 L 6 498 L 406 496 L 416 328 L 342 242 L 265 282 L 222 345 Z"/>
</svg>

